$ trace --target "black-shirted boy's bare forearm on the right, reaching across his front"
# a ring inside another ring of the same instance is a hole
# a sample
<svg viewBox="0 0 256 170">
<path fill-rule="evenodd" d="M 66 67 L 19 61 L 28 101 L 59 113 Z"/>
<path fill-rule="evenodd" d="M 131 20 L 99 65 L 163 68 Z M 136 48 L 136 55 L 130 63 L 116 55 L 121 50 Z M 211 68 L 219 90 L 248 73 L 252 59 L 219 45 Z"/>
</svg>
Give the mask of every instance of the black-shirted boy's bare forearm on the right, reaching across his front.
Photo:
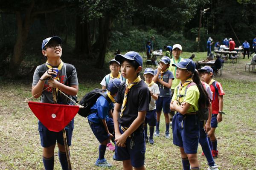
<svg viewBox="0 0 256 170">
<path fill-rule="evenodd" d="M 137 118 L 132 122 L 131 126 L 119 138 L 116 138 L 116 145 L 125 147 L 125 141 L 131 133 L 137 130 L 138 127 L 145 121 L 147 111 L 139 111 Z"/>
</svg>

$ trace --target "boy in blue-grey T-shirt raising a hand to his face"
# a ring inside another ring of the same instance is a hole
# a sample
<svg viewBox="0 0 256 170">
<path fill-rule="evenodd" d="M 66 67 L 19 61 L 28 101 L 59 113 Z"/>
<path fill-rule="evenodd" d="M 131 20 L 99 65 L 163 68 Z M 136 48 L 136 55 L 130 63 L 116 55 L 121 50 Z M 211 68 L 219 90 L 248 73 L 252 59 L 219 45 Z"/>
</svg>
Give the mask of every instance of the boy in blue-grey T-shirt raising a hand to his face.
<svg viewBox="0 0 256 170">
<path fill-rule="evenodd" d="M 170 66 L 170 58 L 169 57 L 163 57 L 160 60 L 160 65 L 159 67 L 154 70 L 154 75 L 155 77 L 153 78 L 153 81 L 157 83 L 160 94 L 158 95 L 158 99 L 156 101 L 156 110 L 157 110 L 157 126 L 156 126 L 156 132 L 155 136 L 160 136 L 160 130 L 159 130 L 159 125 L 160 125 L 160 116 L 162 113 L 162 108 L 163 108 L 163 114 L 165 117 L 166 121 L 166 134 L 165 137 L 166 139 L 170 138 L 170 132 L 169 132 L 169 127 L 170 127 L 170 103 L 171 103 L 171 96 L 172 96 L 172 80 L 174 79 L 174 76 L 172 74 L 172 71 L 168 70 Z"/>
</svg>

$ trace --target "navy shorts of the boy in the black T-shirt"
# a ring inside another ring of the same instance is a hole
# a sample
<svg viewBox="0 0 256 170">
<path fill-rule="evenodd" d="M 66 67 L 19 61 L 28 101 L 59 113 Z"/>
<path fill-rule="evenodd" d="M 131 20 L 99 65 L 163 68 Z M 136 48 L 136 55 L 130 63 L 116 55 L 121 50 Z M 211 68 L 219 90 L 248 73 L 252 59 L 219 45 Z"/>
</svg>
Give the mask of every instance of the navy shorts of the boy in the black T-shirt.
<svg viewBox="0 0 256 170">
<path fill-rule="evenodd" d="M 119 125 L 120 133 L 123 134 L 124 131 Z M 131 137 L 134 138 L 134 147 L 130 146 L 131 138 L 128 136 L 126 139 L 126 147 L 118 147 L 115 145 L 115 157 L 119 161 L 131 160 L 131 165 L 133 167 L 142 167 L 145 161 L 145 134 L 143 133 L 132 133 Z M 115 142 L 116 144 L 116 142 Z"/>
</svg>

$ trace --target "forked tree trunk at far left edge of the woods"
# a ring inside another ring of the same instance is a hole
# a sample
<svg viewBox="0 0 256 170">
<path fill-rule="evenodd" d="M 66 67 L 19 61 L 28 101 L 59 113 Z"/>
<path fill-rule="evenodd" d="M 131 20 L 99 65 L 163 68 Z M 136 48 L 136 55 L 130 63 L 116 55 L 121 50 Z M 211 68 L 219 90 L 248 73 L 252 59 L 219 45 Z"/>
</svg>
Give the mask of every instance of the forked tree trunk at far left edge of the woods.
<svg viewBox="0 0 256 170">
<path fill-rule="evenodd" d="M 28 38 L 29 29 L 32 25 L 31 11 L 32 11 L 34 4 L 35 4 L 34 1 L 32 1 L 28 10 L 25 13 L 24 20 L 22 20 L 20 12 L 15 11 L 15 15 L 17 18 L 18 37 L 17 37 L 17 41 L 13 48 L 12 59 L 9 63 L 9 71 L 6 74 L 6 77 L 8 77 L 8 78 L 15 78 L 15 76 L 18 74 L 18 71 L 20 68 L 20 63 L 23 60 L 23 51 L 24 51 L 26 41 Z"/>
</svg>

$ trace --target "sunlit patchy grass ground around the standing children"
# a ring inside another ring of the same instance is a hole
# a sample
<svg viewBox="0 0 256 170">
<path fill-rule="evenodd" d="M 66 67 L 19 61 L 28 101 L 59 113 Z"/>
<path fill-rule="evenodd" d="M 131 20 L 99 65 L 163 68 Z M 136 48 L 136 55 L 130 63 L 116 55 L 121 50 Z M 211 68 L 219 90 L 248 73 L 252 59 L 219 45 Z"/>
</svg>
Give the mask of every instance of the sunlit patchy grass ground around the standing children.
<svg viewBox="0 0 256 170">
<path fill-rule="evenodd" d="M 189 58 L 191 53 L 183 53 Z M 143 56 L 143 55 L 142 55 Z M 206 58 L 206 53 L 196 53 L 197 58 Z M 109 55 L 106 60 L 113 58 Z M 68 58 L 63 59 L 67 62 Z M 69 62 L 69 61 L 68 61 Z M 94 88 L 101 88 L 100 81 L 108 66 L 91 71 L 90 62 L 73 61 L 79 76 L 79 99 Z M 219 155 L 215 158 L 221 170 L 256 169 L 256 117 L 255 87 L 256 72 L 244 71 L 245 63 L 226 63 L 223 75 L 214 79 L 221 82 L 225 92 L 223 122 L 216 129 Z M 86 75 L 84 75 L 86 74 Z M 239 75 L 238 75 L 239 74 Z M 228 75 L 228 76 L 227 76 Z M 88 78 L 89 77 L 89 78 Z M 245 80 L 241 80 L 245 79 Z M 247 81 L 246 81 L 247 80 Z M 43 170 L 42 147 L 38 133 L 38 119 L 29 109 L 24 99 L 31 97 L 32 77 L 19 80 L 0 79 L 0 169 L 1 170 Z M 32 99 L 31 101 L 39 101 Z M 145 167 L 147 170 L 182 170 L 179 148 L 171 139 L 164 138 L 164 117 L 160 122 L 160 137 L 154 138 L 155 144 L 146 144 Z M 71 150 L 71 162 L 74 170 L 103 170 L 94 165 L 98 157 L 99 142 L 93 135 L 87 119 L 75 117 L 75 129 Z M 207 160 L 201 156 L 198 147 L 198 159 L 202 170 L 207 169 Z M 113 152 L 106 151 L 107 160 L 113 164 L 113 170 L 122 169 L 122 162 L 112 159 Z M 55 148 L 55 169 L 61 169 L 58 150 Z"/>
</svg>

